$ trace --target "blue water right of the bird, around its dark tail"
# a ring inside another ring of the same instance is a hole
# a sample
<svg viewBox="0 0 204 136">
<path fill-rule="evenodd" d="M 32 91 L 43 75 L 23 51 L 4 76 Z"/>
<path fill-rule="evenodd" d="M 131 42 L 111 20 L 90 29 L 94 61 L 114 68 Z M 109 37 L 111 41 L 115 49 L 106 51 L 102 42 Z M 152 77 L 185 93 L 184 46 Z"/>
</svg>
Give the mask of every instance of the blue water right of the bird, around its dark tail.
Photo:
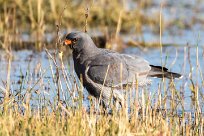
<svg viewBox="0 0 204 136">
<path fill-rule="evenodd" d="M 183 75 L 182 79 L 175 80 L 176 90 L 184 98 L 184 109 L 185 111 L 194 110 L 191 107 L 192 103 L 192 91 L 190 86 L 192 82 L 189 78 L 192 74 L 192 81 L 194 84 L 199 85 L 199 94 L 200 95 L 200 106 L 203 107 L 203 98 L 204 89 L 202 86 L 202 77 L 203 77 L 203 67 L 204 67 L 204 48 L 198 47 L 198 64 L 199 68 L 197 69 L 197 48 L 194 47 L 165 47 L 161 54 L 160 49 L 148 49 L 146 51 L 141 51 L 138 48 L 127 48 L 125 53 L 137 54 L 142 56 L 153 65 L 161 66 L 161 61 L 163 66 L 167 67 L 170 71 L 181 73 Z M 189 54 L 190 53 L 190 54 Z M 191 72 L 192 70 L 192 72 Z M 159 79 L 153 79 L 153 84 L 151 85 L 150 92 L 158 91 L 158 84 L 161 82 Z M 167 84 L 169 80 L 166 81 Z M 167 85 L 168 86 L 168 85 Z M 163 90 L 164 91 L 164 90 Z M 164 93 L 164 92 L 163 92 Z M 171 97 L 171 94 L 168 96 Z M 181 109 L 181 107 L 180 107 Z"/>
</svg>

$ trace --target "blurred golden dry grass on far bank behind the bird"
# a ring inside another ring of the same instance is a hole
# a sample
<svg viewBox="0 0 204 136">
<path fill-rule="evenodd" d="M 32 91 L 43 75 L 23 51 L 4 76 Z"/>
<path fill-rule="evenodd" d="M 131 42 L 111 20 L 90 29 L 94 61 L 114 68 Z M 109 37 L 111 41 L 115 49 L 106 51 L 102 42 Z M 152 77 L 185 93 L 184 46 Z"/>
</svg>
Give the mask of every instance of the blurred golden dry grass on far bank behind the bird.
<svg viewBox="0 0 204 136">
<path fill-rule="evenodd" d="M 106 47 L 109 47 L 109 41 L 116 42 L 118 45 L 123 44 L 118 35 L 129 32 L 134 33 L 140 39 L 137 41 L 140 46 L 158 46 L 159 43 L 146 43 L 143 33 L 148 28 L 154 34 L 159 35 L 159 6 L 155 7 L 153 0 L 128 2 L 131 0 L 112 0 L 111 2 L 109 0 L 0 0 L 0 41 L 4 43 L 0 44 L 0 47 L 7 48 L 9 39 L 15 49 L 35 47 L 40 50 L 44 44 L 53 43 L 54 38 L 49 41 L 46 34 L 52 35 L 56 31 L 56 25 L 59 24 L 62 31 L 72 29 L 82 31 L 87 24 L 89 32 L 96 30 L 106 35 L 108 38 Z M 198 2 L 192 7 L 192 12 L 197 12 L 194 8 L 199 4 L 203 3 Z M 164 2 L 163 5 L 164 8 L 169 6 L 168 9 L 171 9 L 171 3 Z M 129 8 L 131 6 L 135 8 Z M 85 23 L 84 14 L 87 8 L 89 17 Z M 148 11 L 151 8 L 158 10 L 152 13 Z M 61 18 L 62 11 L 64 12 Z M 162 29 L 165 31 L 173 26 L 177 26 L 178 29 L 188 29 L 197 22 L 202 24 L 202 18 L 195 17 L 192 21 L 189 19 L 186 21 L 186 18 L 180 17 L 179 14 L 178 17 L 179 19 L 168 18 L 166 20 L 162 17 Z M 27 40 L 22 38 L 22 34 L 25 33 L 29 36 Z M 53 37 L 55 36 L 54 34 Z M 138 43 L 131 42 L 130 44 L 137 46 Z"/>
</svg>

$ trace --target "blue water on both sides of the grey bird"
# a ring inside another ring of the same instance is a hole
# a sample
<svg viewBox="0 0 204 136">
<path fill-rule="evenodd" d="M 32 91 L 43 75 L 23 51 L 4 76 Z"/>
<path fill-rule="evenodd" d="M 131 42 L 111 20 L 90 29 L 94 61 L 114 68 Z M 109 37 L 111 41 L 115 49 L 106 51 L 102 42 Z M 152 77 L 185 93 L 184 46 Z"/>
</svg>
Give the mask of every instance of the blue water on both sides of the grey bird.
<svg viewBox="0 0 204 136">
<path fill-rule="evenodd" d="M 194 92 L 191 88 L 193 85 L 198 84 L 199 86 L 199 104 L 203 108 L 203 67 L 204 67 L 204 48 L 198 47 L 197 56 L 196 47 L 165 47 L 161 55 L 160 49 L 148 49 L 140 50 L 138 48 L 127 48 L 124 53 L 134 54 L 144 57 L 146 60 L 153 65 L 163 65 L 169 68 L 173 72 L 178 72 L 183 75 L 180 80 L 175 80 L 176 94 L 175 97 L 181 97 L 184 100 L 184 110 L 192 111 L 191 107 L 194 99 Z M 199 67 L 197 67 L 197 58 L 199 62 Z M 7 77 L 7 60 L 3 51 L 1 51 L 0 56 L 0 85 L 5 87 L 6 77 Z M 77 86 L 73 86 L 78 79 L 75 79 L 73 72 L 73 62 L 70 58 L 65 58 L 65 71 L 66 78 L 64 75 L 60 75 L 62 85 L 61 100 L 70 103 L 70 93 L 73 90 L 77 90 Z M 58 64 L 60 66 L 60 63 Z M 60 69 L 61 70 L 61 69 Z M 22 50 L 18 52 L 13 52 L 13 61 L 11 64 L 11 93 L 15 99 L 25 100 L 24 95 L 28 91 L 31 92 L 31 105 L 33 107 L 37 105 L 42 105 L 42 99 L 46 99 L 47 103 L 54 102 L 57 99 L 57 86 L 53 80 L 53 76 L 56 76 L 56 67 L 51 60 L 48 59 L 48 55 L 45 52 L 32 52 L 28 50 Z M 192 80 L 191 80 L 192 77 Z M 65 80 L 69 80 L 69 84 L 65 84 Z M 161 88 L 161 93 L 164 96 L 164 90 L 167 90 L 167 107 L 170 106 L 168 100 L 172 98 L 172 92 L 169 88 L 164 89 L 164 85 L 161 84 L 161 79 L 152 79 L 153 83 L 146 90 L 147 94 L 153 96 L 153 94 L 158 94 L 158 88 Z M 165 84 L 168 87 L 169 80 L 165 80 Z M 19 93 L 21 95 L 19 95 Z M 84 104 L 88 105 L 87 102 L 87 92 L 84 91 Z M 178 94 L 178 95 L 177 95 Z M 3 93 L 1 93 L 3 96 Z M 1 98 L 2 99 L 2 98 Z M 157 99 L 157 97 L 155 97 Z M 177 99 L 177 100 L 180 100 Z M 19 102 L 21 103 L 21 102 Z M 178 104 L 178 109 L 182 109 L 181 101 L 176 101 Z M 37 108 L 37 107 L 36 107 Z"/>
</svg>

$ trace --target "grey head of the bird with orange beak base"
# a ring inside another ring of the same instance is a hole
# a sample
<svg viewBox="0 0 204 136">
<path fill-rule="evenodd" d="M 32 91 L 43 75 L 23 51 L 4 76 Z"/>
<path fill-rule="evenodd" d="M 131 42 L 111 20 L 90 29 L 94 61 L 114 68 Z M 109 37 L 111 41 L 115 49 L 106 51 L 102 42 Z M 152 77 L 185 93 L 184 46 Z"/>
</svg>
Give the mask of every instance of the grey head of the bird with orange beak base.
<svg viewBox="0 0 204 136">
<path fill-rule="evenodd" d="M 77 52 L 95 46 L 91 37 L 84 32 L 71 32 L 67 34 L 63 45 L 69 46 L 72 50 Z"/>
</svg>

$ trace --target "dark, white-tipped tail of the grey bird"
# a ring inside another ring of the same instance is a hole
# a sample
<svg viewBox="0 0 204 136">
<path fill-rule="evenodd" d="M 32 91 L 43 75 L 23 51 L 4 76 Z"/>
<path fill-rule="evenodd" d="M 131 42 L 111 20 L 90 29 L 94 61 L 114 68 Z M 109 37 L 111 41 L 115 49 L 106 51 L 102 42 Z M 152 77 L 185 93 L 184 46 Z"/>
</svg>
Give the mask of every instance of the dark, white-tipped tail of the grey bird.
<svg viewBox="0 0 204 136">
<path fill-rule="evenodd" d="M 181 78 L 182 75 L 174 72 L 168 71 L 167 68 L 161 67 L 161 66 L 154 66 L 150 65 L 151 70 L 148 74 L 149 77 L 157 77 L 157 78 L 169 78 L 169 79 L 174 79 L 174 78 Z"/>
</svg>

